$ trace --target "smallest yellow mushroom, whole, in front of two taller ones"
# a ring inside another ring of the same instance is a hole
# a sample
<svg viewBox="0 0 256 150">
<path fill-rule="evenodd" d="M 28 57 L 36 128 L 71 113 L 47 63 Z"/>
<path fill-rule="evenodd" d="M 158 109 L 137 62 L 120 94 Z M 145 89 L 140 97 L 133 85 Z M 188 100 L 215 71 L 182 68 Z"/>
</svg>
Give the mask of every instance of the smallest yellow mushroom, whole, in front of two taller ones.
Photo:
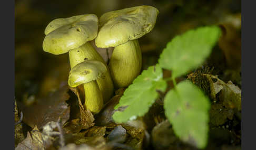
<svg viewBox="0 0 256 150">
<path fill-rule="evenodd" d="M 68 85 L 74 88 L 83 84 L 85 90 L 84 106 L 93 114 L 99 113 L 103 107 L 102 93 L 96 79 L 107 71 L 103 62 L 85 60 L 74 66 L 68 76 Z"/>
</svg>

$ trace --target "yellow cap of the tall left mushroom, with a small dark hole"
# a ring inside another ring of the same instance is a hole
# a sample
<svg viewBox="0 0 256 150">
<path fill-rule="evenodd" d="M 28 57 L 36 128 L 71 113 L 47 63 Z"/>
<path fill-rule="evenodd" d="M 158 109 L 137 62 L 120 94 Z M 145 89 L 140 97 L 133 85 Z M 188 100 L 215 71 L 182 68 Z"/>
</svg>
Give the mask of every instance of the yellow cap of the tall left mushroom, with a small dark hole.
<svg viewBox="0 0 256 150">
<path fill-rule="evenodd" d="M 44 31 L 43 50 L 59 55 L 78 48 L 97 36 L 98 18 L 94 14 L 54 19 Z"/>
</svg>

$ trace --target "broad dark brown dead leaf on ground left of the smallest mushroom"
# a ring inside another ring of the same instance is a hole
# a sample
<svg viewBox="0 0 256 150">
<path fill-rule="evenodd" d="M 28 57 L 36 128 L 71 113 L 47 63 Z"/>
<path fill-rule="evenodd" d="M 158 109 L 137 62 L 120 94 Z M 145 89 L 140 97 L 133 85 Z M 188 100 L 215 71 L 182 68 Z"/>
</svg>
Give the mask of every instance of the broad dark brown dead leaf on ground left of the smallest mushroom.
<svg viewBox="0 0 256 150">
<path fill-rule="evenodd" d="M 22 106 L 24 114 L 23 122 L 31 127 L 35 125 L 41 128 L 50 121 L 56 122 L 61 118 L 61 125 L 70 117 L 70 107 L 65 102 L 70 98 L 67 93 L 67 84 L 45 98 L 38 99 L 36 103 L 29 106 Z"/>
</svg>

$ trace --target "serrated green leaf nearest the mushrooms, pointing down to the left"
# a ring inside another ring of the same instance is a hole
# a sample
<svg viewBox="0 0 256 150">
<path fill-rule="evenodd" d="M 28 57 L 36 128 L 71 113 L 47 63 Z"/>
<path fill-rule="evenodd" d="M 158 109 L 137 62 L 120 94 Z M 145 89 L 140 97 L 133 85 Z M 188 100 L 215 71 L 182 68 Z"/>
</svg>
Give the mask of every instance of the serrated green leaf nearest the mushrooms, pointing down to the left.
<svg viewBox="0 0 256 150">
<path fill-rule="evenodd" d="M 114 109 L 122 107 L 124 110 L 113 114 L 114 121 L 124 123 L 136 119 L 137 116 L 143 116 L 149 111 L 157 98 L 157 90 L 165 91 L 167 87 L 162 77 L 162 69 L 158 64 L 144 70 L 124 91 L 119 104 L 115 106 Z"/>
</svg>

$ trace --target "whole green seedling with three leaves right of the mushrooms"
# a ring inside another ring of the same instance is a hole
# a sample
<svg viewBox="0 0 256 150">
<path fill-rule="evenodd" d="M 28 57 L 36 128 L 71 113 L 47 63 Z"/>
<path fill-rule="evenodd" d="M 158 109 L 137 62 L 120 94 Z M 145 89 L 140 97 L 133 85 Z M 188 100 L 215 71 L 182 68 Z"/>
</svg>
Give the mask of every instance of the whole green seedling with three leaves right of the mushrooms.
<svg viewBox="0 0 256 150">
<path fill-rule="evenodd" d="M 160 55 L 159 63 L 144 70 L 125 90 L 115 106 L 114 121 L 124 123 L 143 116 L 155 102 L 157 91 L 164 92 L 166 81 L 172 80 L 174 88 L 164 98 L 165 115 L 182 141 L 204 148 L 208 140 L 209 98 L 189 80 L 176 84 L 175 78 L 201 65 L 220 35 L 219 27 L 206 26 L 174 37 Z M 163 79 L 162 69 L 172 71 L 171 78 Z"/>
</svg>

